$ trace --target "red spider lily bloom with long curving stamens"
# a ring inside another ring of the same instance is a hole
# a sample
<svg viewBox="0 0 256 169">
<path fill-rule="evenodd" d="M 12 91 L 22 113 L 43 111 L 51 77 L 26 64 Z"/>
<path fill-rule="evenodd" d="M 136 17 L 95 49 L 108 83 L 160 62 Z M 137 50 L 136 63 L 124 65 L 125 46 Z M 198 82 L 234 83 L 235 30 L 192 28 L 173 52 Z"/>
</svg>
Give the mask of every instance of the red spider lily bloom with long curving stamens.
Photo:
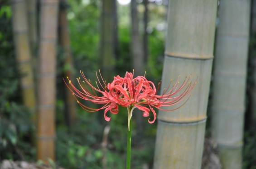
<svg viewBox="0 0 256 169">
<path fill-rule="evenodd" d="M 97 82 L 93 86 L 90 80 L 87 80 L 84 73 L 81 72 L 82 78 L 77 78 L 80 89 L 75 87 L 71 80 L 68 79 L 69 85 L 67 82 L 66 85 L 73 92 L 75 98 L 80 98 L 82 100 L 88 100 L 92 103 L 102 105 L 101 108 L 90 108 L 86 105 L 83 105 L 80 101 L 77 100 L 77 103 L 84 109 L 89 112 L 95 112 L 98 110 L 105 109 L 104 118 L 106 121 L 110 121 L 110 117 L 106 116 L 106 113 L 110 111 L 113 114 L 118 113 L 118 105 L 127 107 L 128 109 L 128 121 L 132 116 L 132 111 L 135 108 L 143 111 L 143 116 L 148 117 L 150 115 L 150 110 L 154 115 L 154 119 L 148 119 L 149 123 L 154 123 L 156 119 L 156 113 L 153 107 L 159 110 L 164 110 L 161 107 L 176 105 L 182 101 L 184 105 L 188 100 L 188 96 L 195 86 L 196 82 L 191 83 L 189 80 L 191 76 L 186 77 L 182 84 L 179 83 L 179 78 L 173 85 L 164 90 L 163 95 L 157 95 L 159 90 L 160 83 L 156 89 L 153 82 L 148 81 L 145 76 L 133 77 L 133 73 L 126 72 L 124 78 L 121 78 L 119 75 L 114 77 L 113 82 L 108 83 L 104 82 L 101 73 L 96 72 Z M 68 78 L 68 77 L 67 77 Z M 186 99 L 187 98 L 187 99 Z M 181 107 L 180 105 L 179 107 Z M 178 107 L 178 108 L 179 108 Z M 130 110 L 131 108 L 131 110 Z M 175 108 L 173 110 L 176 110 Z M 170 111 L 170 110 L 164 110 Z M 128 123 L 129 124 L 129 123 Z"/>
</svg>

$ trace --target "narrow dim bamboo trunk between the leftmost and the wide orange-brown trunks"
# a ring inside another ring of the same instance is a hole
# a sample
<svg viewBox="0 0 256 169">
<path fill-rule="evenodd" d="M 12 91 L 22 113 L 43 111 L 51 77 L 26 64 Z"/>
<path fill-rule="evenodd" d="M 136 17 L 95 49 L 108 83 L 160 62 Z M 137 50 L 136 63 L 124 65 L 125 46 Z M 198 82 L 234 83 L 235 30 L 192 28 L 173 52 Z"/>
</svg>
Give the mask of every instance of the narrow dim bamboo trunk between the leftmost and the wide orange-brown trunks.
<svg viewBox="0 0 256 169">
<path fill-rule="evenodd" d="M 29 42 L 31 46 L 32 55 L 36 55 L 36 49 L 38 44 L 37 35 L 37 0 L 26 0 L 27 4 L 27 16 L 29 23 Z"/>
</svg>

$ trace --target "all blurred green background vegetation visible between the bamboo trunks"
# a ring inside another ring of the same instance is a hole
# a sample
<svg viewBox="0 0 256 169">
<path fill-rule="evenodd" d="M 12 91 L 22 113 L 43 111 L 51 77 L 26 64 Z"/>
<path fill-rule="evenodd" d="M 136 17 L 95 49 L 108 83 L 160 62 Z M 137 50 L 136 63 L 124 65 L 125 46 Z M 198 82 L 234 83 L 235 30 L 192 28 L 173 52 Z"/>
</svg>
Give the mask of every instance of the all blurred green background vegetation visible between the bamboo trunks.
<svg viewBox="0 0 256 169">
<path fill-rule="evenodd" d="M 147 2 L 146 29 L 144 28 L 145 4 L 143 0 L 137 0 L 137 2 L 141 41 L 145 36 L 145 30 L 147 35 L 146 78 L 157 84 L 161 79 L 164 61 L 168 0 Z M 31 112 L 22 103 L 19 87 L 19 78 L 24 75 L 19 73 L 14 55 L 10 3 L 10 0 L 0 1 L 0 161 L 4 159 L 36 161 L 36 147 L 31 139 L 35 126 L 30 119 Z M 79 70 L 82 70 L 86 72 L 89 79 L 95 80 L 95 72 L 100 68 L 101 5 L 101 0 L 68 0 L 60 3 L 60 8 L 67 9 L 74 65 L 72 73 L 75 77 L 79 77 Z M 121 5 L 116 2 L 116 9 L 118 43 L 115 46 L 114 71 L 116 75 L 123 76 L 126 71 L 134 69 L 130 47 L 132 43 L 130 5 Z M 253 56 L 255 55 L 255 34 L 251 35 L 250 47 L 250 53 Z M 122 169 L 126 163 L 126 109 L 120 108 L 120 113 L 112 115 L 111 121 L 106 122 L 101 113 L 88 113 L 77 107 L 76 122 L 72 125 L 68 124 L 64 101 L 66 86 L 63 83 L 63 77 L 69 65 L 65 62 L 63 47 L 58 45 L 57 49 L 56 164 L 66 169 L 102 169 L 104 167 Z M 249 64 L 248 69 L 248 107 L 253 66 Z M 247 121 L 250 120 L 250 112 L 246 117 L 248 117 Z M 133 169 L 147 169 L 153 166 L 156 123 L 149 124 L 146 118 L 142 120 L 144 121 L 143 132 L 138 131 L 137 124 L 134 124 L 131 160 Z M 110 128 L 109 133 L 108 128 Z M 250 125 L 246 125 L 245 129 L 244 169 L 256 169 L 256 130 Z M 107 149 L 105 150 L 102 145 L 106 140 Z M 106 164 L 104 158 L 106 158 Z"/>
</svg>

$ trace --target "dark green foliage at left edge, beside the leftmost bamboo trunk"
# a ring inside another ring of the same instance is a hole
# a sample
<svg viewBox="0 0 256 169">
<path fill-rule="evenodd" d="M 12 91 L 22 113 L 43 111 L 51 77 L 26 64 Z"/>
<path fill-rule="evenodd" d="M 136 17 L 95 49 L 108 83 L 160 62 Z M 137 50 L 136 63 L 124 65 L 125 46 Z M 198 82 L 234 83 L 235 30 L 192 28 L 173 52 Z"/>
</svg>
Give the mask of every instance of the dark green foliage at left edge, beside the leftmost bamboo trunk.
<svg viewBox="0 0 256 169">
<path fill-rule="evenodd" d="M 17 160 L 34 153 L 27 142 L 33 126 L 29 110 L 20 103 L 10 6 L 0 8 L 0 25 L 0 159 Z"/>
</svg>

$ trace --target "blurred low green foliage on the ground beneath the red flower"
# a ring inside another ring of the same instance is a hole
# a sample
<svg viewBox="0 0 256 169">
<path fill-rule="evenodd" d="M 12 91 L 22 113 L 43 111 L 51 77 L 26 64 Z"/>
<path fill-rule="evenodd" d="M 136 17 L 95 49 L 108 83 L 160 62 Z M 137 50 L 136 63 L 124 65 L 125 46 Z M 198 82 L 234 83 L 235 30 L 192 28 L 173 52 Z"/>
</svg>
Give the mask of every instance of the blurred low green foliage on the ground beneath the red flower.
<svg viewBox="0 0 256 169">
<path fill-rule="evenodd" d="M 108 146 L 105 158 L 107 168 L 122 169 L 126 164 L 127 141 L 127 110 L 121 108 L 119 114 L 110 114 L 110 122 L 103 122 L 103 114 L 100 112 L 88 113 L 80 110 L 78 121 L 72 128 L 58 125 L 57 129 L 57 163 L 67 169 L 102 169 L 104 152 L 101 146 L 103 130 L 110 126 L 108 134 Z M 147 120 L 147 119 L 145 119 Z M 155 128 L 152 124 L 146 130 L 150 132 Z M 132 140 L 132 167 L 142 169 L 143 164 L 152 165 L 155 135 L 147 136 L 147 139 L 139 141 L 136 137 L 136 129 L 133 131 Z"/>
</svg>

